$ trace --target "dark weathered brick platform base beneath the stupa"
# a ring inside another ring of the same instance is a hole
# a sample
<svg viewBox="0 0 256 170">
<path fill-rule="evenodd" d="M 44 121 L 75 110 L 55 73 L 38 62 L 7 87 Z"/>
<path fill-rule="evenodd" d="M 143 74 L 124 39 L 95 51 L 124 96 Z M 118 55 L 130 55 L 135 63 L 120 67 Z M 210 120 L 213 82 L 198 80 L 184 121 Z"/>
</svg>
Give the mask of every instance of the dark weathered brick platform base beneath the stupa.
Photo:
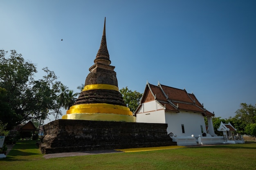
<svg viewBox="0 0 256 170">
<path fill-rule="evenodd" d="M 59 119 L 43 130 L 43 154 L 177 145 L 167 124 Z"/>
</svg>

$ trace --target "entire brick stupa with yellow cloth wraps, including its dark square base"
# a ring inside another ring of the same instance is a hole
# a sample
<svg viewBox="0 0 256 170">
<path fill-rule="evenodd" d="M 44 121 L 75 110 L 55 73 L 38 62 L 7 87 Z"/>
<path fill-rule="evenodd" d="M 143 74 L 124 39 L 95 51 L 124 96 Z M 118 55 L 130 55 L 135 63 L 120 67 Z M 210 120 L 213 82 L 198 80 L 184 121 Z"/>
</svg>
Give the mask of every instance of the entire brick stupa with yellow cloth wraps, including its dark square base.
<svg viewBox="0 0 256 170">
<path fill-rule="evenodd" d="M 106 18 L 99 51 L 78 99 L 62 119 L 43 126 L 43 154 L 177 145 L 167 124 L 136 123 L 119 93 L 115 66 L 110 66 Z"/>
</svg>

